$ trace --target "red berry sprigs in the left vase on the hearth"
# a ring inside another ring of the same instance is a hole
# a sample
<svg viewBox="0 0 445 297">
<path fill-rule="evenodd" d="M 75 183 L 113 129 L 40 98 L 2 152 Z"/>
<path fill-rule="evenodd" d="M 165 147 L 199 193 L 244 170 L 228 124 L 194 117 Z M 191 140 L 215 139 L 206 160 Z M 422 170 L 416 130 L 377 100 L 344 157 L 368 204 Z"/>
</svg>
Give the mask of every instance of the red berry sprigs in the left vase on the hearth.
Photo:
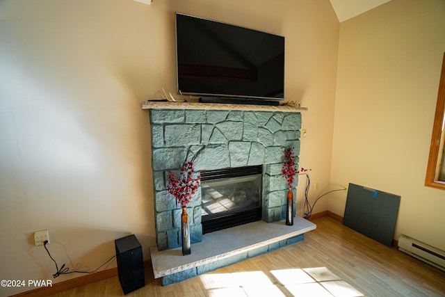
<svg viewBox="0 0 445 297">
<path fill-rule="evenodd" d="M 175 173 L 167 170 L 168 180 L 168 193 L 172 194 L 176 201 L 181 204 L 181 207 L 185 207 L 191 202 L 192 196 L 195 195 L 198 186 L 200 185 L 201 177 L 193 178 L 193 162 L 184 162 L 181 168 L 179 177 L 176 177 Z"/>
</svg>

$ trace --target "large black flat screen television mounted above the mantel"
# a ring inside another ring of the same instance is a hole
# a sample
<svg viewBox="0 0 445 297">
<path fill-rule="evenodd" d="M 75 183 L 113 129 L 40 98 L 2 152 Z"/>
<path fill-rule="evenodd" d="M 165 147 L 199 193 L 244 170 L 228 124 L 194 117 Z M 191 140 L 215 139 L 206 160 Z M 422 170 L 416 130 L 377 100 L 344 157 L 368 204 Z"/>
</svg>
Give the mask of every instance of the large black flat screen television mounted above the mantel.
<svg viewBox="0 0 445 297">
<path fill-rule="evenodd" d="M 284 36 L 176 13 L 176 46 L 178 93 L 202 102 L 284 99 Z"/>
</svg>

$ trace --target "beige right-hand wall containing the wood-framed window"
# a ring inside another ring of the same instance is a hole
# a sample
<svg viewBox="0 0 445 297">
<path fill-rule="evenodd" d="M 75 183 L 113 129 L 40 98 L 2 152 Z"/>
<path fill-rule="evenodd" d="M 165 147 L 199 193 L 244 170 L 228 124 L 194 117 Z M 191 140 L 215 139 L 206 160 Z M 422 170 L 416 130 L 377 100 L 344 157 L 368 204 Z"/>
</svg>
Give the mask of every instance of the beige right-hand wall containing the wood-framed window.
<svg viewBox="0 0 445 297">
<path fill-rule="evenodd" d="M 445 250 L 445 192 L 423 186 L 445 1 L 392 0 L 341 23 L 332 184 L 401 195 L 396 232 Z M 343 216 L 346 193 L 329 209 Z"/>
</svg>

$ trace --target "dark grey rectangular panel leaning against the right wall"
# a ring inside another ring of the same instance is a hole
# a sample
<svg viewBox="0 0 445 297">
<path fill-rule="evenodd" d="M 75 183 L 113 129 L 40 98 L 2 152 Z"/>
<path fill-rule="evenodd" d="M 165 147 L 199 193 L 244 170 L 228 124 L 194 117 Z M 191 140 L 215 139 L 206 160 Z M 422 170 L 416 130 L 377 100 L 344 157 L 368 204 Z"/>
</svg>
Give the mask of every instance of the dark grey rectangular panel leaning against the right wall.
<svg viewBox="0 0 445 297">
<path fill-rule="evenodd" d="M 401 196 L 349 184 L 343 225 L 391 246 Z"/>
</svg>

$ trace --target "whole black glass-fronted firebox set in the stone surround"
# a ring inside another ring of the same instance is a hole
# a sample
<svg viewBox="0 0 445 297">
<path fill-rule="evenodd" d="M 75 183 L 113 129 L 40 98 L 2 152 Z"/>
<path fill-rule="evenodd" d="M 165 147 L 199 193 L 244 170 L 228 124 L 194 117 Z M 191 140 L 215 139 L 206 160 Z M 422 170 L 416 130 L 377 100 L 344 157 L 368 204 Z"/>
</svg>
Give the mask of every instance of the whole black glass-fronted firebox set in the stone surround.
<svg viewBox="0 0 445 297">
<path fill-rule="evenodd" d="M 201 171 L 202 233 L 261 220 L 263 166 Z"/>
</svg>

